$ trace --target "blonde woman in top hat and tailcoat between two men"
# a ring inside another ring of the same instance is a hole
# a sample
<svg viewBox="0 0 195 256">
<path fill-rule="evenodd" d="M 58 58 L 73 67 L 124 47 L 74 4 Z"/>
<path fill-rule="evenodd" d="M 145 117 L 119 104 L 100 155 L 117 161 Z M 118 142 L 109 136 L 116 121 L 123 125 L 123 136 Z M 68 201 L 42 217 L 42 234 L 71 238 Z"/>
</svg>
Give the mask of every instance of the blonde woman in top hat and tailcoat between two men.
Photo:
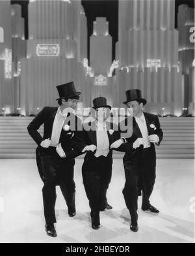
<svg viewBox="0 0 195 256">
<path fill-rule="evenodd" d="M 106 197 L 112 173 L 110 146 L 114 142 L 119 147 L 124 141 L 120 132 L 116 131 L 118 128 L 106 121 L 107 111 L 111 109 L 107 99 L 98 97 L 93 104 L 95 120 L 84 123 L 83 131 L 75 132 L 72 146 L 75 150 L 86 152 L 82 167 L 83 184 L 91 208 L 92 229 L 99 229 L 99 211 L 112 208 Z"/>
</svg>

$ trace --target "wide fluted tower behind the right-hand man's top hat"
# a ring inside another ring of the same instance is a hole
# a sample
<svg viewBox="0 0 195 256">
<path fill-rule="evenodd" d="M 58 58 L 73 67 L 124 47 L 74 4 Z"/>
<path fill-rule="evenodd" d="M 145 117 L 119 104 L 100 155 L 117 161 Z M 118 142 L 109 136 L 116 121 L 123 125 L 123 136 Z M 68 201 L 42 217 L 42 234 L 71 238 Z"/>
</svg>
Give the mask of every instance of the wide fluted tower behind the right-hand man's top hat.
<svg viewBox="0 0 195 256">
<path fill-rule="evenodd" d="M 182 114 L 182 74 L 178 67 L 175 1 L 119 0 L 116 72 L 118 106 L 127 89 L 141 89 L 153 114 Z"/>
</svg>

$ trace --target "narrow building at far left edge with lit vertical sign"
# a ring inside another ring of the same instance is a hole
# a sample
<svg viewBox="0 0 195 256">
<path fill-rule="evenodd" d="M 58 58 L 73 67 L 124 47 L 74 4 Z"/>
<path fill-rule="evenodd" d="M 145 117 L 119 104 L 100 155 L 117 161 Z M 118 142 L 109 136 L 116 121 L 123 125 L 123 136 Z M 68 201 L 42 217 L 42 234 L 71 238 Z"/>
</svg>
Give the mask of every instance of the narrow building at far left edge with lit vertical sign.
<svg viewBox="0 0 195 256">
<path fill-rule="evenodd" d="M 0 108 L 8 109 L 7 114 L 10 114 L 20 107 L 20 63 L 26 57 L 21 6 L 0 1 L 0 24 L 3 31 L 3 42 L 0 40 Z"/>
</svg>

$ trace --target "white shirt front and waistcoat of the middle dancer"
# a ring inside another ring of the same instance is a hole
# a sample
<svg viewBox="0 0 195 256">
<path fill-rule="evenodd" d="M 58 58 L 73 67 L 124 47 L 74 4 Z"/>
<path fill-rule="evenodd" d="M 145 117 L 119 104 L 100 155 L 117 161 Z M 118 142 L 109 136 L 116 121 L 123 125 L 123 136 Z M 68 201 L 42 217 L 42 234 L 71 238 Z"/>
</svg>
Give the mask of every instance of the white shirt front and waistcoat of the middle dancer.
<svg viewBox="0 0 195 256">
<path fill-rule="evenodd" d="M 103 155 L 106 157 L 109 153 L 109 136 L 107 133 L 106 123 L 97 123 L 96 124 L 96 138 L 97 138 L 97 150 L 94 154 L 96 157 Z"/>
</svg>

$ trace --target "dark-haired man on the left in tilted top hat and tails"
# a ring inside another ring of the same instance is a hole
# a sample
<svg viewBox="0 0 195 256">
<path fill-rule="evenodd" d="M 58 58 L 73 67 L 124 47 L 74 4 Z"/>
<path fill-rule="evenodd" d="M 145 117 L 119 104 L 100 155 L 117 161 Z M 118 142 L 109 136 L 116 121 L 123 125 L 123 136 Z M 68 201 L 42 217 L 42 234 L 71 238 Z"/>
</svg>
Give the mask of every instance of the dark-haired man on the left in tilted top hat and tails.
<svg viewBox="0 0 195 256">
<path fill-rule="evenodd" d="M 74 157 L 80 153 L 72 150 L 70 139 L 73 129 L 64 129 L 67 117 L 76 120 L 73 113 L 67 110 L 76 108 L 80 92 L 75 90 L 73 82 L 57 86 L 59 92 L 59 107 L 45 106 L 27 127 L 38 148 L 36 161 L 44 187 L 42 189 L 44 200 L 45 231 L 49 236 L 57 236 L 54 223 L 55 217 L 55 186 L 59 185 L 68 206 L 70 217 L 75 216 L 75 182 L 73 180 Z M 67 119 L 68 120 L 68 119 Z M 39 127 L 44 124 L 44 136 L 38 133 Z M 70 124 L 70 122 L 68 123 Z M 66 127 L 68 127 L 68 124 Z"/>
</svg>

